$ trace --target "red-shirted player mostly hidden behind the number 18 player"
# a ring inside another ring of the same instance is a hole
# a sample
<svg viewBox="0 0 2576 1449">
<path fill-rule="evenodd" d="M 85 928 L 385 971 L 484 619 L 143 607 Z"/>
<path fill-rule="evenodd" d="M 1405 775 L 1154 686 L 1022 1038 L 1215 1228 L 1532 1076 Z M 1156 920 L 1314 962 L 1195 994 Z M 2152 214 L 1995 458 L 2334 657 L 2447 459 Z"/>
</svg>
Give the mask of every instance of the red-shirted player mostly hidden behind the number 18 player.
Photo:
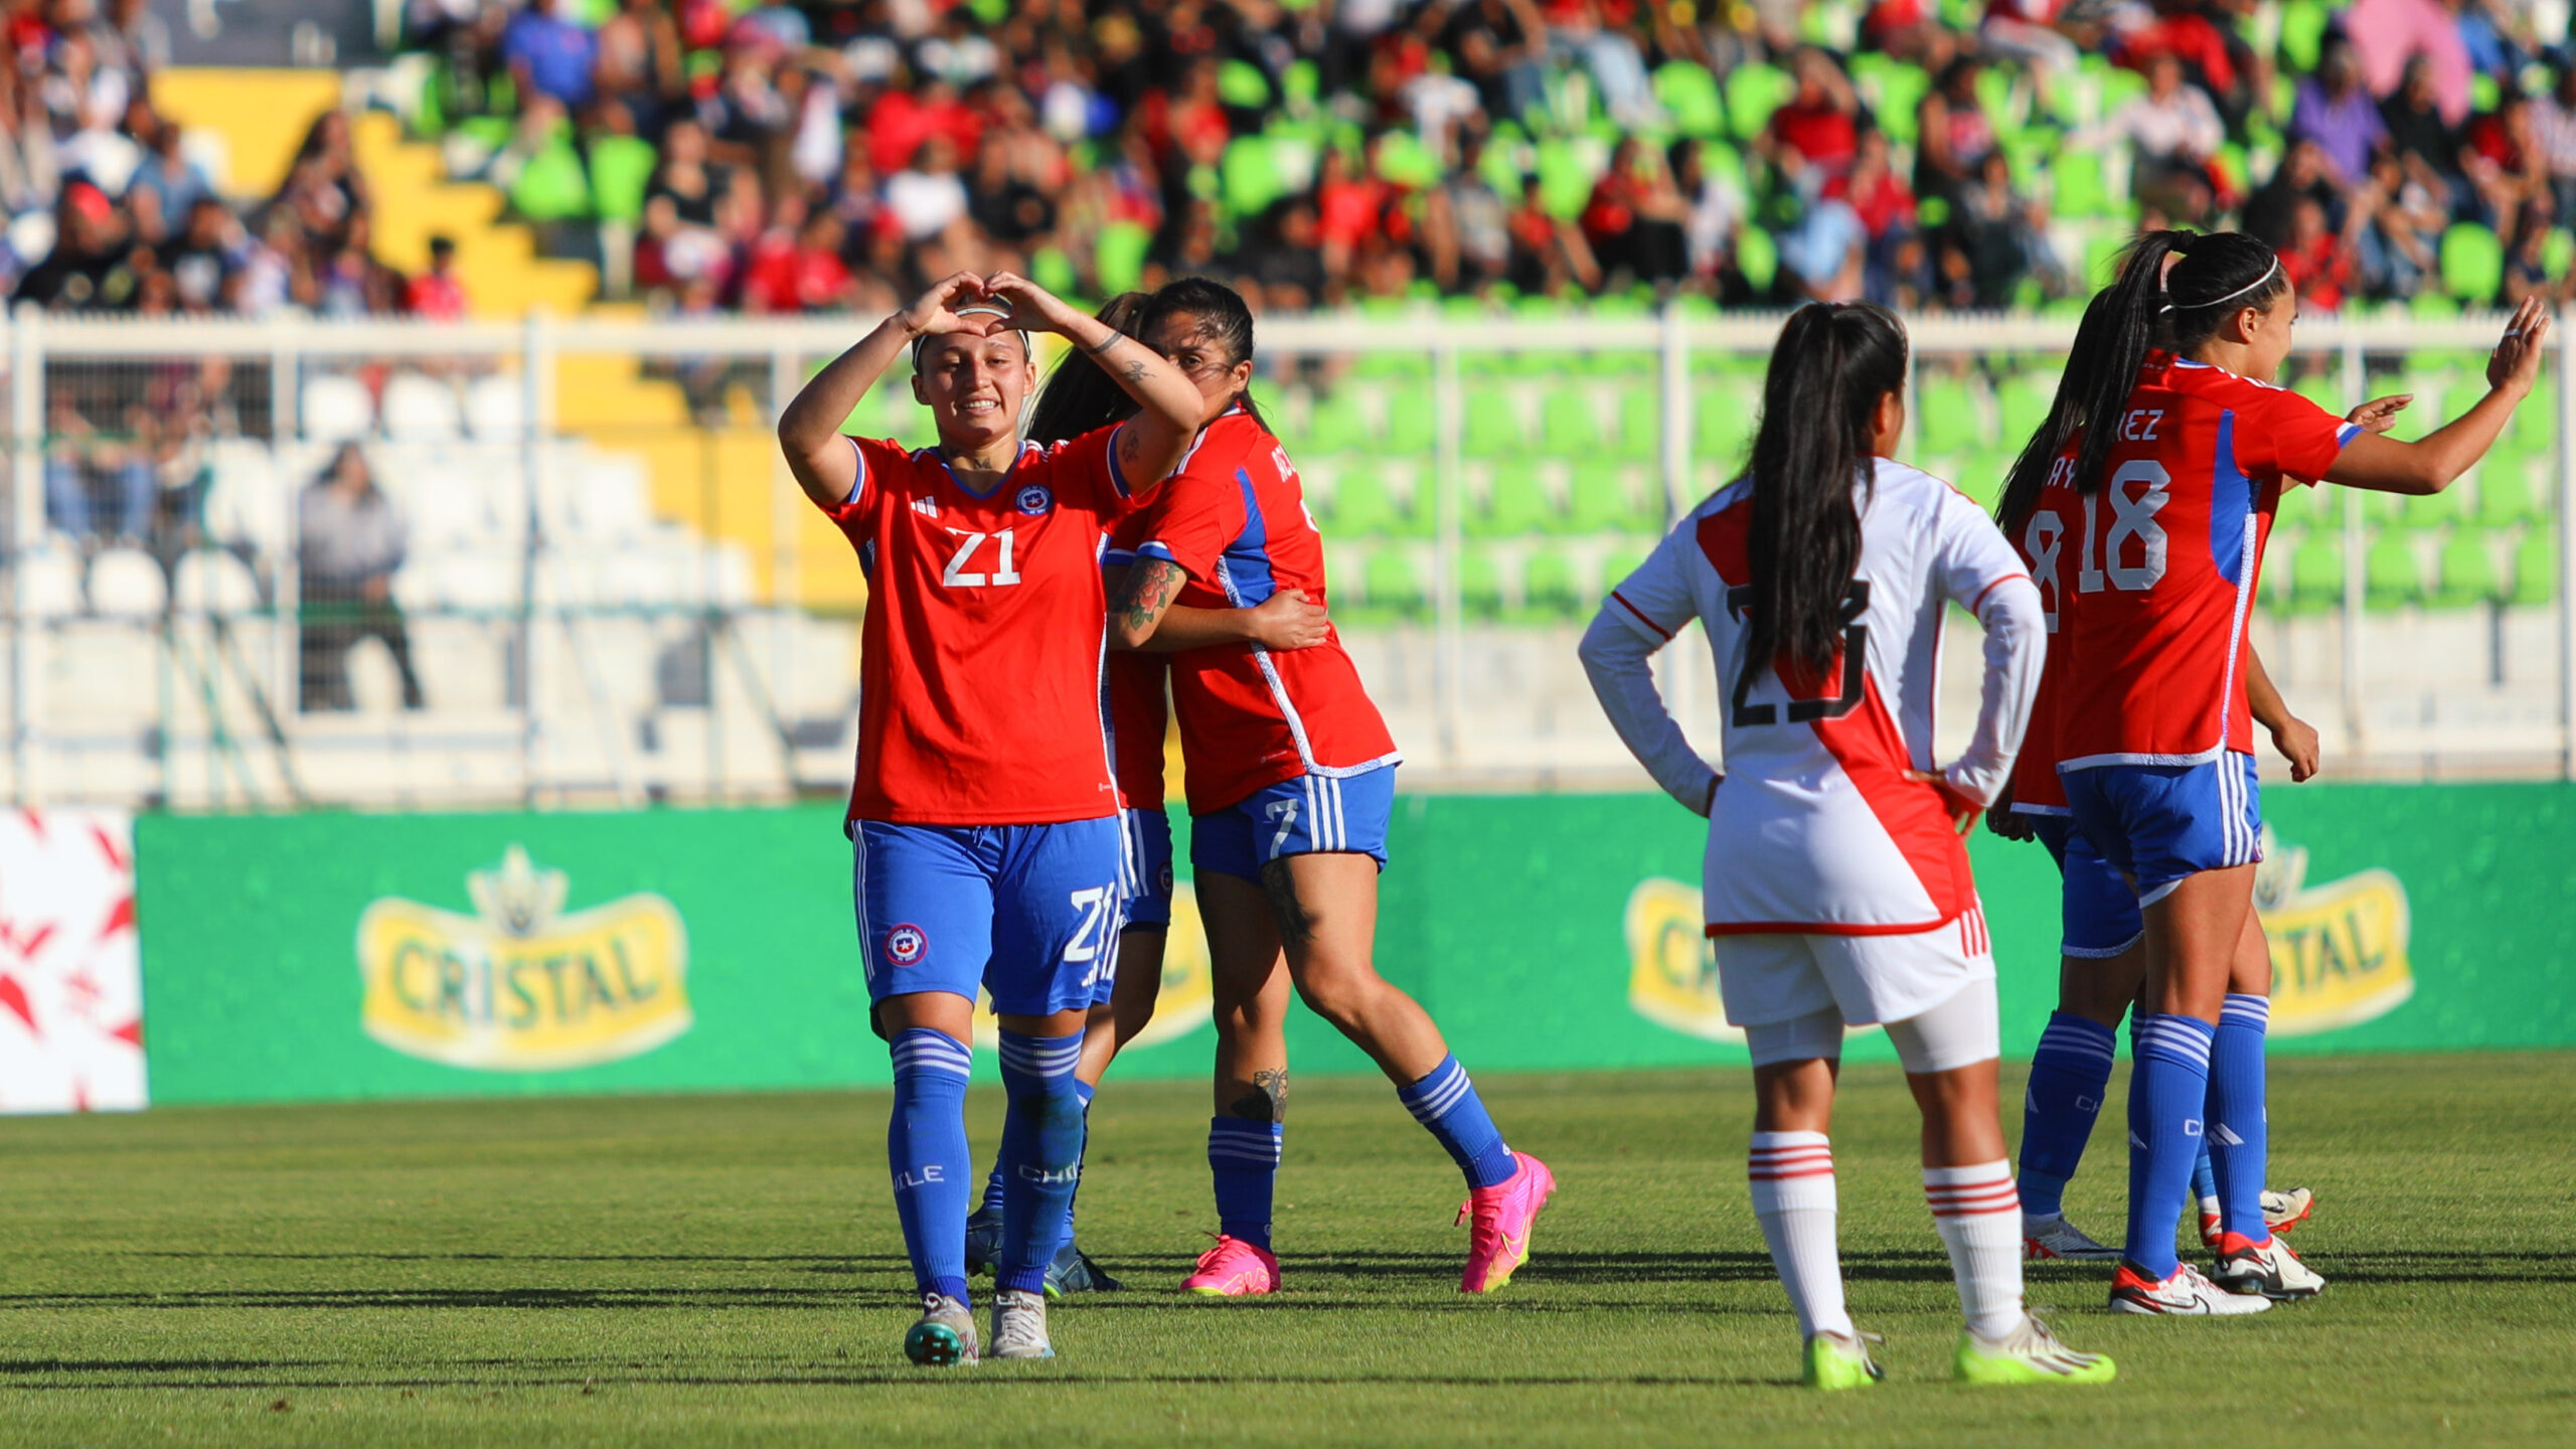
<svg viewBox="0 0 2576 1449">
<path fill-rule="evenodd" d="M 2087 309 L 2087 325 L 2099 327 L 2094 312 L 2107 312 L 2112 294 L 2105 291 Z M 2074 366 L 2089 366 L 2087 343 L 2097 333 L 2081 333 Z M 2354 420 L 2370 407 L 2354 410 Z M 2378 425 L 2393 423 L 2393 413 L 2378 413 Z M 2004 539 L 2032 567 L 2040 585 L 2040 606 L 2048 611 L 2050 637 L 2058 627 L 2058 588 L 2066 585 L 2061 570 L 2038 567 L 2043 557 L 2056 562 L 2061 552 L 2061 521 L 2035 526 L 2040 487 L 2066 446 L 2066 433 L 2040 428 L 2022 449 L 2004 498 L 1994 508 L 1994 521 Z M 2022 755 L 2012 766 L 2012 789 L 1996 802 L 1989 825 L 2007 841 L 2040 841 L 2056 861 L 2063 882 L 2061 946 L 2058 946 L 2058 1008 L 2040 1031 L 2040 1044 L 2030 1057 L 2030 1091 L 2022 1104 L 2022 1256 L 2030 1261 L 2115 1261 L 2117 1248 L 2094 1243 L 2081 1227 L 2066 1222 L 2066 1181 L 2076 1176 L 2094 1119 L 2110 1088 L 2112 1047 L 2120 1018 L 2138 1000 L 2146 980 L 2146 923 L 2138 915 L 2138 897 L 2110 869 L 2092 843 L 2074 830 L 2066 815 L 2066 792 L 2058 786 L 2056 753 L 2056 676 L 2066 670 L 2066 650 L 2050 639 L 2048 665 L 2040 670 L 2040 699 L 2030 714 L 2030 735 L 2022 737 Z M 2272 745 L 2290 761 L 2290 779 L 2306 781 L 2316 773 L 2316 730 L 2290 714 L 2280 691 L 2264 676 L 2262 660 L 2246 650 L 2246 694 L 2254 722 L 2272 732 Z M 2136 1034 L 2136 1021 L 2130 1024 Z M 2136 1057 L 2136 1042 L 2130 1042 Z M 2221 1212 L 2215 1171 L 2208 1137 L 2192 1168 L 2192 1189 L 2200 1196 L 2200 1230 L 2210 1248 L 2218 1245 Z M 2308 1217 L 2313 1194 L 2293 1189 L 2287 1194 L 2264 1191 L 2264 1222 L 2275 1230 L 2295 1227 Z"/>
</svg>

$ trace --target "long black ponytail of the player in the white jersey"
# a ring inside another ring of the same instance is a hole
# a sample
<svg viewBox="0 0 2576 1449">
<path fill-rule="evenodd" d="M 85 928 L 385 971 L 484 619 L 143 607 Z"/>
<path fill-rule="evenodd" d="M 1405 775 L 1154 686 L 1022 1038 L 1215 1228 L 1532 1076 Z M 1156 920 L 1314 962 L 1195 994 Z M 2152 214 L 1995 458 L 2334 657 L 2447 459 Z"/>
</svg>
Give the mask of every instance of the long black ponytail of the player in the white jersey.
<svg viewBox="0 0 2576 1449">
<path fill-rule="evenodd" d="M 1834 665 L 1842 598 L 1860 567 L 1878 400 L 1906 389 L 1906 330 L 1868 302 L 1790 312 L 1762 382 L 1747 536 L 1747 650 L 1811 673 Z"/>
</svg>

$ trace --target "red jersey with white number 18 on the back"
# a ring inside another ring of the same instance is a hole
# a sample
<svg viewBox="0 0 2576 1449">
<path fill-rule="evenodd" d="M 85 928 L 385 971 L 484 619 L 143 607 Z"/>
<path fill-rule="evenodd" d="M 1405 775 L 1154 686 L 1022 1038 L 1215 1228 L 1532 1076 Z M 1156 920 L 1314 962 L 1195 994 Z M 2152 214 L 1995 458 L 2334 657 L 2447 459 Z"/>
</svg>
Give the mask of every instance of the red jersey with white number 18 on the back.
<svg viewBox="0 0 2576 1449">
<path fill-rule="evenodd" d="M 2285 480 L 2318 480 L 2360 433 L 2316 402 L 2148 353 L 2102 492 L 2069 443 L 2025 526 L 2053 603 L 2063 768 L 2190 766 L 2254 750 L 2241 655 Z"/>
</svg>

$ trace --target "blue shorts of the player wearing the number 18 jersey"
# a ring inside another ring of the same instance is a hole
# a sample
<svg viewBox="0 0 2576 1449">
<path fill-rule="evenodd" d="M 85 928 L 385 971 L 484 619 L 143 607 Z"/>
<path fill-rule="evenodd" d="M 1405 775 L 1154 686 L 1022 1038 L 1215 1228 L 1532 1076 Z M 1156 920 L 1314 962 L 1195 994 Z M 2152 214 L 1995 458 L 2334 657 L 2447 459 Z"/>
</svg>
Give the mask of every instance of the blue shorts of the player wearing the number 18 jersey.
<svg viewBox="0 0 2576 1449">
<path fill-rule="evenodd" d="M 2226 750 L 2197 766 L 2058 768 L 2076 830 L 2156 905 L 2184 877 L 2262 859 L 2254 755 Z"/>
</svg>

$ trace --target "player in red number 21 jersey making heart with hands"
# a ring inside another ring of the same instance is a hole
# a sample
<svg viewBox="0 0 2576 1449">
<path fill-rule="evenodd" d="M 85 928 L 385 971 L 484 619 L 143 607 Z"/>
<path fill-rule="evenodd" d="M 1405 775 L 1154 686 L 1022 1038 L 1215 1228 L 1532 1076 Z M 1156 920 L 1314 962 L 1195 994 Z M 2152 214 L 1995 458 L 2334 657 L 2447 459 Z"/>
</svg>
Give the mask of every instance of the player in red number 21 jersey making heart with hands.
<svg viewBox="0 0 2576 1449">
<path fill-rule="evenodd" d="M 1141 413 L 1020 441 L 1023 327 L 1100 358 Z M 938 446 L 840 423 L 912 348 Z M 1036 284 L 956 273 L 835 358 L 778 418 L 788 469 L 868 572 L 848 833 L 876 1031 L 894 1055 L 886 1155 L 922 1318 L 914 1364 L 979 1356 L 966 1297 L 966 1073 L 976 987 L 1010 1109 L 992 1351 L 1046 1359 L 1046 1269 L 1082 1163 L 1074 1060 L 1110 967 L 1123 879 L 1100 719 L 1105 529 L 1180 462 L 1198 392 Z"/>
</svg>

